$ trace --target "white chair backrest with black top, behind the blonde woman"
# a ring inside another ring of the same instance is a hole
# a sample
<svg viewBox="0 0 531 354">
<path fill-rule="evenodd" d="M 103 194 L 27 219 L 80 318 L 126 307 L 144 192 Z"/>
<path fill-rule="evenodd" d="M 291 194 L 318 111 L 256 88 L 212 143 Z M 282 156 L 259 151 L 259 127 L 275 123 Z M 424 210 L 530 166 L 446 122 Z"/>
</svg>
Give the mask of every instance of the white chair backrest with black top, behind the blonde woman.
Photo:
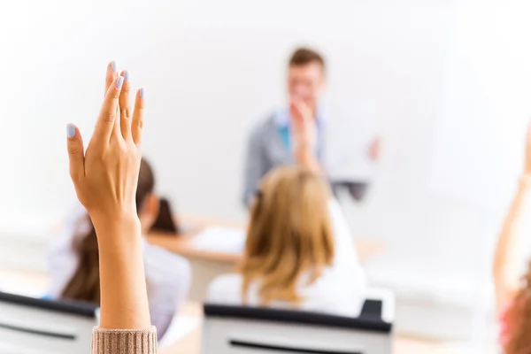
<svg viewBox="0 0 531 354">
<path fill-rule="evenodd" d="M 271 308 L 204 305 L 202 354 L 389 354 L 394 297 L 367 299 L 358 318 Z"/>
</svg>

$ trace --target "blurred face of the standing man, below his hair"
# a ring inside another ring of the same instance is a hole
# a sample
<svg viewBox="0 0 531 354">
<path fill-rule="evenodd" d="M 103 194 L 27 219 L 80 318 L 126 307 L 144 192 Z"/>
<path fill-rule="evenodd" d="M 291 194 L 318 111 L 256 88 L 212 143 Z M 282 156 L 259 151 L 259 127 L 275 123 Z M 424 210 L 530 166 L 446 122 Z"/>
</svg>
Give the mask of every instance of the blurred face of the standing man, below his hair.
<svg viewBox="0 0 531 354">
<path fill-rule="evenodd" d="M 325 73 L 318 62 L 289 66 L 289 99 L 303 100 L 305 104 L 315 109 L 324 86 Z"/>
</svg>

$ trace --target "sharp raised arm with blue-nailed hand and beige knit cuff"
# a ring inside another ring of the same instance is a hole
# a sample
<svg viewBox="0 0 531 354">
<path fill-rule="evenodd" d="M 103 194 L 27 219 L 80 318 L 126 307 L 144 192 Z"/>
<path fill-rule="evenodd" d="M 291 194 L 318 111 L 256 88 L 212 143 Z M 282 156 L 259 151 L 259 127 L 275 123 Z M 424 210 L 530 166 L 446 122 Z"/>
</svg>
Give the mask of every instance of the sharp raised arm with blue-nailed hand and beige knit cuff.
<svg viewBox="0 0 531 354">
<path fill-rule="evenodd" d="M 128 78 L 127 78 L 128 79 Z M 106 94 L 94 133 L 84 149 L 79 129 L 66 127 L 70 175 L 96 230 L 101 317 L 92 353 L 154 354 L 142 262 L 142 228 L 136 212 L 143 90 L 130 105 L 130 82 L 107 66 Z"/>
</svg>

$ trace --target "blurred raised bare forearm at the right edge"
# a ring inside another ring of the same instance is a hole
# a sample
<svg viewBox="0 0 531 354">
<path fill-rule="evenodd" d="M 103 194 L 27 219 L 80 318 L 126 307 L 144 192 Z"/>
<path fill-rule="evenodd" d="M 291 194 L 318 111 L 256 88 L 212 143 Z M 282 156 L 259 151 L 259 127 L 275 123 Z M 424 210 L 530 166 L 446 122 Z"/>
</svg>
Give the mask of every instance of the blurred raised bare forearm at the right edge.
<svg viewBox="0 0 531 354">
<path fill-rule="evenodd" d="M 494 281 L 496 304 L 501 311 L 518 288 L 520 261 L 519 241 L 531 232 L 527 219 L 531 218 L 531 176 L 524 176 L 512 201 L 496 245 Z"/>
</svg>

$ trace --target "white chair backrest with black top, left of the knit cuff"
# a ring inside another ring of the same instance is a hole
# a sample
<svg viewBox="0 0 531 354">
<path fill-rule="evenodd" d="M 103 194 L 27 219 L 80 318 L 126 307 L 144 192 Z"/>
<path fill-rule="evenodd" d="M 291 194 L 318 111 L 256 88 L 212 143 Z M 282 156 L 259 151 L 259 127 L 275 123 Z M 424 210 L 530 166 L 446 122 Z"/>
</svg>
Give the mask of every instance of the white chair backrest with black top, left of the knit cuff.
<svg viewBox="0 0 531 354">
<path fill-rule="evenodd" d="M 97 312 L 92 304 L 0 292 L 0 352 L 89 352 Z"/>
</svg>

